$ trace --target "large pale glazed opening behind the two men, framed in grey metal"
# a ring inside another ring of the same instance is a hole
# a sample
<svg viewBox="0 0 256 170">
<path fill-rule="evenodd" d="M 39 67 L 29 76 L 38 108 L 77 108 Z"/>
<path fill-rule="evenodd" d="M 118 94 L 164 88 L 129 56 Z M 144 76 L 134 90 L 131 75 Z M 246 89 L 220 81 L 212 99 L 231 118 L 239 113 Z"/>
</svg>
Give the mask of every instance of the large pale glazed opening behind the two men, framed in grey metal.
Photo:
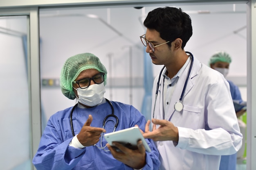
<svg viewBox="0 0 256 170">
<path fill-rule="evenodd" d="M 195 4 L 175 7 L 188 13 L 192 20 L 193 35 L 185 50 L 192 52 L 205 65 L 209 65 L 209 59 L 215 51 L 228 52 L 232 63 L 227 79 L 238 85 L 242 98 L 246 101 L 246 4 Z M 150 68 L 151 76 L 155 78 L 162 66 L 145 62 L 150 57 L 145 54 L 139 36 L 146 31 L 143 21 L 147 13 L 155 8 L 157 7 L 40 9 L 43 125 L 56 111 L 75 104 L 74 100 L 61 94 L 59 76 L 65 60 L 83 52 L 95 54 L 106 66 L 106 98 L 134 105 L 145 116 L 150 114 L 150 109 L 143 112 L 145 84 L 153 83 L 144 81 L 145 76 L 150 76 L 146 74 L 148 70 L 145 68 Z M 150 101 L 147 104 L 151 108 Z M 246 114 L 240 119 L 246 120 Z M 241 159 L 237 161 L 237 170 L 246 168 L 246 152 L 242 152 Z"/>
</svg>

